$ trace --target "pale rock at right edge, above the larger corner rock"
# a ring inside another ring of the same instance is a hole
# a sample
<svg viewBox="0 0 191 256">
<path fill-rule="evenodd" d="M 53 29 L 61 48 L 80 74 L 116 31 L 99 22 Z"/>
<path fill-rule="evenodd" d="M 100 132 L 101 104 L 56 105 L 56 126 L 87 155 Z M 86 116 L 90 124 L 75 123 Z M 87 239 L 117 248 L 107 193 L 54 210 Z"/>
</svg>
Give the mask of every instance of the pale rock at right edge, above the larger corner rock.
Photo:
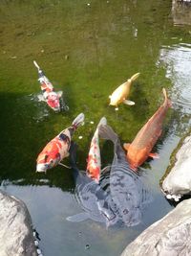
<svg viewBox="0 0 191 256">
<path fill-rule="evenodd" d="M 179 200 L 191 192 L 191 136 L 187 136 L 176 154 L 170 173 L 162 182 L 162 190 L 168 199 Z"/>
</svg>

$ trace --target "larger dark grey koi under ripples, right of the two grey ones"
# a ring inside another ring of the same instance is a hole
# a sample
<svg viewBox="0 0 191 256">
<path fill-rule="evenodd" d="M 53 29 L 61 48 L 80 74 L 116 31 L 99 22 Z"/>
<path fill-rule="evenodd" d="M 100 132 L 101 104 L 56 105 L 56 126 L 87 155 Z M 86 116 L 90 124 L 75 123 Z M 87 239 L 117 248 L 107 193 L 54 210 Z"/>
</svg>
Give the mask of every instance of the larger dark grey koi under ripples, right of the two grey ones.
<svg viewBox="0 0 191 256">
<path fill-rule="evenodd" d="M 115 131 L 107 125 L 100 126 L 99 137 L 114 143 L 109 189 L 113 203 L 118 209 L 118 221 L 122 221 L 126 226 L 137 225 L 142 220 L 144 207 L 152 200 L 150 190 L 143 177 L 130 169 Z"/>
</svg>

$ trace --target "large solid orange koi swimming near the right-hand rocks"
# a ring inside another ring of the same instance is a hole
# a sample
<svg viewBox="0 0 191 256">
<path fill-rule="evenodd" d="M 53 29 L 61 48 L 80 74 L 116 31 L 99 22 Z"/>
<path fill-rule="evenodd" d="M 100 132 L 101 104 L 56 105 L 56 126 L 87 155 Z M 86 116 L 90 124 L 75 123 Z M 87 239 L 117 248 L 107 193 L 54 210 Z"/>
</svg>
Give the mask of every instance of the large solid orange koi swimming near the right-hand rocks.
<svg viewBox="0 0 191 256">
<path fill-rule="evenodd" d="M 164 95 L 164 103 L 159 106 L 156 113 L 149 119 L 149 121 L 138 131 L 138 134 L 134 141 L 124 143 L 123 147 L 127 151 L 127 160 L 130 163 L 130 167 L 137 171 L 140 166 L 149 156 L 153 158 L 159 158 L 157 153 L 152 153 L 152 149 L 156 144 L 159 136 L 162 132 L 162 122 L 170 107 L 171 101 L 167 98 L 166 90 L 162 89 Z"/>
</svg>

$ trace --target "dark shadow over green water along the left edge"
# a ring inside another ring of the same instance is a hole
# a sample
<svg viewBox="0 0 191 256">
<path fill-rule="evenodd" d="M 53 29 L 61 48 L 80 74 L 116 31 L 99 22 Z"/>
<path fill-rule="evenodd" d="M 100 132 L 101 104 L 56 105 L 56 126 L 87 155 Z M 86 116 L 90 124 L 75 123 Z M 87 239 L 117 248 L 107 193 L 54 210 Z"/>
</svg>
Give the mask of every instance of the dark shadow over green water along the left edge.
<svg viewBox="0 0 191 256">
<path fill-rule="evenodd" d="M 47 134 L 49 137 L 47 121 L 51 118 L 51 110 L 48 110 L 49 116 L 39 122 L 39 112 L 42 114 L 43 107 L 47 106 L 30 101 L 30 97 L 24 94 L 13 93 L 0 94 L 0 107 L 0 180 L 20 185 L 38 185 L 44 184 L 43 179 L 48 179 L 50 186 L 61 187 L 66 191 L 74 189 L 70 170 L 57 167 L 55 172 L 48 172 L 47 175 L 35 173 L 37 152 L 48 142 L 45 136 Z"/>
</svg>

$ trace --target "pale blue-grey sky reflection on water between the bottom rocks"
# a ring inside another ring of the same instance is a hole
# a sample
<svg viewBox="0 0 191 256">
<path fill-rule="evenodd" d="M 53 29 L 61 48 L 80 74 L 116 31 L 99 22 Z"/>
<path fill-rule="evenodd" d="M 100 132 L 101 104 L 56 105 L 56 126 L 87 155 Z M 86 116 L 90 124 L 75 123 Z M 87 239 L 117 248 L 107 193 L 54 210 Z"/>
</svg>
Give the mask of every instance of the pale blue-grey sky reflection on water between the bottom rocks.
<svg viewBox="0 0 191 256">
<path fill-rule="evenodd" d="M 32 217 L 33 227 L 39 233 L 43 255 L 117 255 L 126 241 L 138 235 L 139 230 L 106 229 L 96 221 L 72 223 L 66 221 L 80 207 L 71 193 L 48 186 L 1 187 L 11 195 L 22 198 Z M 141 228 L 140 228 L 141 230 Z M 87 246 L 89 245 L 89 246 Z M 77 254 L 76 254 L 77 252 Z"/>
</svg>

